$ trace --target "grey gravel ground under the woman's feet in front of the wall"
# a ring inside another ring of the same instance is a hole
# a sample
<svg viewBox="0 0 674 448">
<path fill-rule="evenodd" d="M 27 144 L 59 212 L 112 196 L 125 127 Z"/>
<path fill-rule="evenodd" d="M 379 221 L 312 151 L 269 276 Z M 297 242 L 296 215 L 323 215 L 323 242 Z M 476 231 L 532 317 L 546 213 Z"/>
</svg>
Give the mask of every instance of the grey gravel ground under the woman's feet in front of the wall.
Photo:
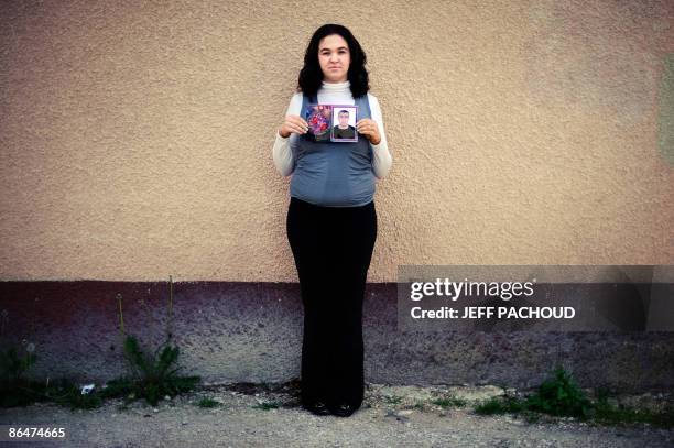
<svg viewBox="0 0 674 448">
<path fill-rule="evenodd" d="M 209 385 L 165 400 L 156 407 L 108 401 L 93 411 L 47 404 L 0 409 L 2 425 L 63 427 L 61 442 L 0 442 L 0 446 L 67 447 L 672 447 L 674 429 L 649 425 L 600 427 L 570 419 L 526 423 L 479 416 L 470 403 L 500 395 L 496 386 L 417 387 L 369 384 L 351 417 L 315 416 L 297 401 L 296 384 Z M 456 396 L 466 407 L 431 402 Z M 203 397 L 215 408 L 196 405 Z M 648 395 L 652 398 L 652 395 Z M 265 403 L 278 408 L 262 408 Z"/>
</svg>

